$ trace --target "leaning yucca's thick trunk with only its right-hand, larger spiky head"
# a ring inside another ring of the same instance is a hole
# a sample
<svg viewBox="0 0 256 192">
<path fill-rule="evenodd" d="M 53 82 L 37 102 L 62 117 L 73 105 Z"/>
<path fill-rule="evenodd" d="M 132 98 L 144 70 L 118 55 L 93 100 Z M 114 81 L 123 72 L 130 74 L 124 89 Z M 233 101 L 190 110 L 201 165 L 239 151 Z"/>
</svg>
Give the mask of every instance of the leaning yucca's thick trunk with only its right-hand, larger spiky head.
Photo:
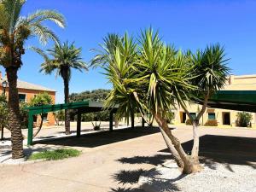
<svg viewBox="0 0 256 192">
<path fill-rule="evenodd" d="M 137 85 L 137 103 L 141 110 L 152 113 L 163 135 L 169 138 L 168 147 L 177 165 L 184 173 L 195 172 L 190 156 L 185 153 L 177 137 L 172 134 L 166 122 L 166 115 L 176 107 L 189 100 L 189 94 L 196 86 L 189 82 L 194 77 L 189 55 L 166 46 L 158 33 L 148 29 L 139 38 L 139 51 L 135 67 L 139 70 Z"/>
</svg>

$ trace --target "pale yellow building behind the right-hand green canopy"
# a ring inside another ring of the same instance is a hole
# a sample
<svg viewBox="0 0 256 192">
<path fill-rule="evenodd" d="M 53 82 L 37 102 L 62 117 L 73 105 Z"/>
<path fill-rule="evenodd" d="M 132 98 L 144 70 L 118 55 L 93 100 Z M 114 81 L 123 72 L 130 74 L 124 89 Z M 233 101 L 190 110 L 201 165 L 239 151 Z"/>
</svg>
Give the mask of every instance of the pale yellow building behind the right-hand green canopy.
<svg viewBox="0 0 256 192">
<path fill-rule="evenodd" d="M 255 75 L 230 75 L 223 90 L 256 90 L 256 74 Z M 189 113 L 192 116 L 196 115 L 201 110 L 201 105 L 188 105 Z M 208 119 L 216 119 L 220 126 L 236 126 L 236 115 L 238 111 L 207 108 L 200 124 L 205 125 Z M 256 113 L 252 113 L 252 126 L 256 127 Z M 174 112 L 174 124 L 184 124 L 189 117 L 184 112 L 183 108 L 177 108 Z"/>
</svg>

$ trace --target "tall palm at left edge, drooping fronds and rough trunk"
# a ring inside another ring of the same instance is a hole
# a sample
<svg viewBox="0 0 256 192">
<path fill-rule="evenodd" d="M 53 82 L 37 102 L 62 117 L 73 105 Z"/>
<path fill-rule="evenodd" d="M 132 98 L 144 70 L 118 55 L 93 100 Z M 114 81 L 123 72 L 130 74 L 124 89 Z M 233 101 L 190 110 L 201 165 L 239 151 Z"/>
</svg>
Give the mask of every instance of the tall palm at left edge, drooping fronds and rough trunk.
<svg viewBox="0 0 256 192">
<path fill-rule="evenodd" d="M 9 82 L 9 126 L 13 159 L 23 157 L 17 72 L 22 66 L 24 44 L 32 37 L 38 37 L 41 44 L 47 44 L 49 39 L 58 40 L 55 33 L 44 26 L 46 20 L 53 21 L 57 26 L 65 26 L 63 16 L 53 10 L 38 10 L 32 15 L 20 16 L 25 3 L 25 0 L 0 1 L 0 65 L 5 68 Z"/>
</svg>

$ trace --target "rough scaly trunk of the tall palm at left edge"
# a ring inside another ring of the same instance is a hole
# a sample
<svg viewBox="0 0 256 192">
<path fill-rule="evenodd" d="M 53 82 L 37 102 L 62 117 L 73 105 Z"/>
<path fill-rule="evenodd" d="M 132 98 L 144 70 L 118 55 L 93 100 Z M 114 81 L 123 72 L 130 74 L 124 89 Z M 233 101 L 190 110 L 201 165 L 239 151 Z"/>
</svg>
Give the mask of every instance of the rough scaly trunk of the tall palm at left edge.
<svg viewBox="0 0 256 192">
<path fill-rule="evenodd" d="M 12 158 L 19 159 L 23 154 L 23 137 L 20 125 L 19 93 L 17 89 L 17 67 L 6 68 L 9 83 L 9 127 L 11 131 Z"/>
</svg>

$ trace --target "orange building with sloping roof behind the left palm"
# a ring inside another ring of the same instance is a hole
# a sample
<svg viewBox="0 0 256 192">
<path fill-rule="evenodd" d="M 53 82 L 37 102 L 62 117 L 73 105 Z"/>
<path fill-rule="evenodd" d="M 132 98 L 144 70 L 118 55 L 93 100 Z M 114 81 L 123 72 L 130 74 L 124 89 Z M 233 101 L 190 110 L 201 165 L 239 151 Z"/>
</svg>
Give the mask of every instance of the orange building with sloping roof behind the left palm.
<svg viewBox="0 0 256 192">
<path fill-rule="evenodd" d="M 7 81 L 6 76 L 3 77 L 3 73 L 0 72 L 0 93 L 4 91 L 3 89 L 3 81 Z M 20 102 L 30 102 L 34 96 L 37 96 L 39 93 L 47 92 L 49 96 L 52 98 L 53 104 L 55 104 L 55 90 L 51 90 L 44 86 L 38 84 L 31 84 L 25 81 L 21 81 L 18 79 L 17 81 L 17 88 L 19 91 L 19 99 Z M 9 87 L 5 89 L 5 95 L 8 98 L 9 95 Z M 35 122 L 38 124 L 40 119 L 35 118 Z M 44 117 L 44 125 L 55 125 L 55 118 L 53 113 L 48 113 L 47 116 Z"/>
</svg>

